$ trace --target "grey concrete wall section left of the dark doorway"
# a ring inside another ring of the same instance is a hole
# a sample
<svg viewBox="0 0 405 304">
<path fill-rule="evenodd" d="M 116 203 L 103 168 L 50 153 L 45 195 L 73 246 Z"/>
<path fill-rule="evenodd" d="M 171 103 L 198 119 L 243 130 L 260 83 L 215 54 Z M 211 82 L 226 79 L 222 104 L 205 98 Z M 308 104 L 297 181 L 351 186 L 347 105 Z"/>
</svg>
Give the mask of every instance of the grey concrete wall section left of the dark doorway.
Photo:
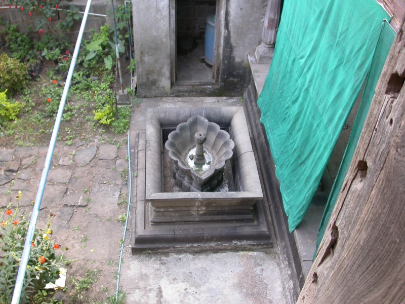
<svg viewBox="0 0 405 304">
<path fill-rule="evenodd" d="M 132 13 L 138 96 L 169 96 L 169 0 L 133 0 Z"/>
</svg>

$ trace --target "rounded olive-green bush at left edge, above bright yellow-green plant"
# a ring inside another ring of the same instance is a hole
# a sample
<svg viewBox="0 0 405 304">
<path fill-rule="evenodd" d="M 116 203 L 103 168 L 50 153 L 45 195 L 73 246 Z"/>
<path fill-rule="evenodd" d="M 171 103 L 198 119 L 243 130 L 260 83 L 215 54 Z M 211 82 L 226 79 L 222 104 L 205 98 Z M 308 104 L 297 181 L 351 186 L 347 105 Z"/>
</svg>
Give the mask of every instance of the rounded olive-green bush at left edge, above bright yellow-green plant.
<svg viewBox="0 0 405 304">
<path fill-rule="evenodd" d="M 14 93 L 22 89 L 27 82 L 27 65 L 7 54 L 0 55 L 0 90 Z M 10 94 L 8 94 L 10 95 Z"/>
</svg>

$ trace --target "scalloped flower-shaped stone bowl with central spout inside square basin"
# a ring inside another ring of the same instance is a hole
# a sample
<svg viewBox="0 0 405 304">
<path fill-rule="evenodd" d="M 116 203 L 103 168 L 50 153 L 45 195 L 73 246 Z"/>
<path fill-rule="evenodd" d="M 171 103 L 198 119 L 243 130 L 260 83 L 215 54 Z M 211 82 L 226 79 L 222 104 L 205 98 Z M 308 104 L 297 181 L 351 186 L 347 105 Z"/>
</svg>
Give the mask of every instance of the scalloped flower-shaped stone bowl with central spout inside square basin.
<svg viewBox="0 0 405 304">
<path fill-rule="evenodd" d="M 169 134 L 165 146 L 175 162 L 173 177 L 184 192 L 213 192 L 222 183 L 235 144 L 217 124 L 194 115 Z"/>
</svg>

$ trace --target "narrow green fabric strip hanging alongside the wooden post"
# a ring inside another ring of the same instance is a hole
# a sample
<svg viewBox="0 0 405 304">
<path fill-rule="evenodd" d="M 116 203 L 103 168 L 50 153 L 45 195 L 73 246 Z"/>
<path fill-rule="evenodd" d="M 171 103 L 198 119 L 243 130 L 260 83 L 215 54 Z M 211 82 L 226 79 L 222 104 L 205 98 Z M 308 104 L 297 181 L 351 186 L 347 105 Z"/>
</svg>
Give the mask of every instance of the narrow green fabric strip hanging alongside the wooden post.
<svg viewBox="0 0 405 304">
<path fill-rule="evenodd" d="M 347 143 L 345 154 L 343 156 L 342 162 L 340 163 L 338 175 L 336 176 L 335 182 L 332 186 L 328 203 L 325 207 L 325 211 L 323 212 L 323 217 L 319 225 L 315 254 L 319 247 L 320 241 L 322 240 L 323 234 L 326 231 L 329 219 L 332 214 L 333 207 L 335 206 L 336 200 L 340 193 L 340 189 L 342 188 L 343 185 L 343 181 L 346 177 L 347 170 L 349 169 L 350 162 L 354 154 L 354 150 L 357 146 L 361 130 L 363 128 L 364 122 L 366 121 L 367 113 L 369 112 L 371 101 L 373 100 L 373 96 L 375 94 L 378 79 L 380 78 L 381 71 L 383 70 L 385 60 L 387 59 L 394 38 L 395 38 L 395 31 L 388 24 L 388 22 L 384 20 L 383 28 L 380 34 L 380 39 L 378 41 L 373 61 L 371 63 L 370 73 L 367 78 L 366 87 L 364 89 L 360 106 L 358 108 L 356 120 L 354 121 L 349 142 Z"/>
</svg>

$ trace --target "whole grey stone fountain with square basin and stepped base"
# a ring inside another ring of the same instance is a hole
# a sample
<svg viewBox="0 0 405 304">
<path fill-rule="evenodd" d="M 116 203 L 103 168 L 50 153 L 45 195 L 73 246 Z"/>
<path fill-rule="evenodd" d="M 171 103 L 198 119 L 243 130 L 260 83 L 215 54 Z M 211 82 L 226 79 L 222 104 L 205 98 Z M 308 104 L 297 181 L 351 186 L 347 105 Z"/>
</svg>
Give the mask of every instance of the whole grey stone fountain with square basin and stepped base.
<svg viewBox="0 0 405 304">
<path fill-rule="evenodd" d="M 136 151 L 133 252 L 272 244 L 242 107 L 148 108 Z"/>
</svg>

